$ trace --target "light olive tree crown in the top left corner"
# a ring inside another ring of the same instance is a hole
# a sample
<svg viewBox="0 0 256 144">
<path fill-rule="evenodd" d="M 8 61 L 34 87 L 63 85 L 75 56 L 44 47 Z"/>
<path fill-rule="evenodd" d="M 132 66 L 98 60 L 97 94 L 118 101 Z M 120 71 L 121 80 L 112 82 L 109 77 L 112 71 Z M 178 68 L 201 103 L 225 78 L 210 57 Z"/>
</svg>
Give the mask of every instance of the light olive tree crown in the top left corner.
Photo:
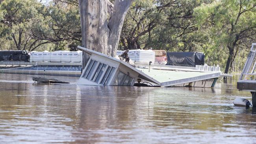
<svg viewBox="0 0 256 144">
<path fill-rule="evenodd" d="M 27 47 L 37 46 L 41 42 L 34 42 L 30 35 L 26 34 L 26 26 L 34 18 L 43 17 L 45 7 L 35 0 L 5 0 L 0 4 L 2 17 L 2 37 L 13 40 L 17 50 L 26 50 Z"/>
</svg>

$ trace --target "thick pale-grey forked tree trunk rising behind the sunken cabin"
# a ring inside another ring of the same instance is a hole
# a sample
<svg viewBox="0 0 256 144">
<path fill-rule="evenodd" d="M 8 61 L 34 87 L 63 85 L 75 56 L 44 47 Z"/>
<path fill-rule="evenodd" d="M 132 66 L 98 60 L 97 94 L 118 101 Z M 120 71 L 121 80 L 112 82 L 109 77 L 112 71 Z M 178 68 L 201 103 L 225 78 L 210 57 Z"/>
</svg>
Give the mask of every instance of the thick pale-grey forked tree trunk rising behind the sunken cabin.
<svg viewBox="0 0 256 144">
<path fill-rule="evenodd" d="M 79 0 L 82 45 L 85 48 L 116 56 L 126 13 L 133 0 Z M 83 54 L 83 69 L 89 55 Z"/>
</svg>

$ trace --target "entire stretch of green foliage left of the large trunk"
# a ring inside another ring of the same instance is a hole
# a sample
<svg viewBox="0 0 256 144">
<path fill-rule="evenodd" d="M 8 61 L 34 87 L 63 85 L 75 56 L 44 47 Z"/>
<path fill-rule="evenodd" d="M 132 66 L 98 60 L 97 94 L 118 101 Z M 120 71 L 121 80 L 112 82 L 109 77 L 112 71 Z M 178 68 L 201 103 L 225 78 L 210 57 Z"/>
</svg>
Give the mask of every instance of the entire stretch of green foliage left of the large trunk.
<svg viewBox="0 0 256 144">
<path fill-rule="evenodd" d="M 37 0 L 5 0 L 0 3 L 0 41 L 6 40 L 10 48 L 1 49 L 33 51 L 46 44 L 46 49 L 55 50 L 80 44 L 79 11 L 65 3 L 45 6 Z"/>
</svg>

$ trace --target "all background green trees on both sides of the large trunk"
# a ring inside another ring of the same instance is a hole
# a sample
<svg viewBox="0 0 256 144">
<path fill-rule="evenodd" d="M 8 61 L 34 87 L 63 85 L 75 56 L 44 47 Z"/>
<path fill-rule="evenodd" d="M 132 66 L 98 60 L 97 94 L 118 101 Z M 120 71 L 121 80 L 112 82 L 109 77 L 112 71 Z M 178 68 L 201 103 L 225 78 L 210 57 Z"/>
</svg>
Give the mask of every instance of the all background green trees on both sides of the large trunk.
<svg viewBox="0 0 256 144">
<path fill-rule="evenodd" d="M 256 0 L 134 0 L 118 49 L 204 52 L 208 65 L 240 73 L 255 17 Z M 81 33 L 78 0 L 0 0 L 0 50 L 76 50 Z"/>
</svg>

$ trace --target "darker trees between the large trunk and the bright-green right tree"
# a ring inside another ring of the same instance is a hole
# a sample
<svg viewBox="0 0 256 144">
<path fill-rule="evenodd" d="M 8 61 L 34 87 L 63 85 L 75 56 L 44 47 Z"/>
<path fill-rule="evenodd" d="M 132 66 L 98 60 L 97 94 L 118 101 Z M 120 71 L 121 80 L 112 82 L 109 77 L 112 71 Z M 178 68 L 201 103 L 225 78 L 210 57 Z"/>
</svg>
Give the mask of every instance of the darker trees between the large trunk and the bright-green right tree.
<svg viewBox="0 0 256 144">
<path fill-rule="evenodd" d="M 121 33 L 121 49 L 202 49 L 206 36 L 198 33 L 193 9 L 211 0 L 135 0 Z"/>
</svg>

